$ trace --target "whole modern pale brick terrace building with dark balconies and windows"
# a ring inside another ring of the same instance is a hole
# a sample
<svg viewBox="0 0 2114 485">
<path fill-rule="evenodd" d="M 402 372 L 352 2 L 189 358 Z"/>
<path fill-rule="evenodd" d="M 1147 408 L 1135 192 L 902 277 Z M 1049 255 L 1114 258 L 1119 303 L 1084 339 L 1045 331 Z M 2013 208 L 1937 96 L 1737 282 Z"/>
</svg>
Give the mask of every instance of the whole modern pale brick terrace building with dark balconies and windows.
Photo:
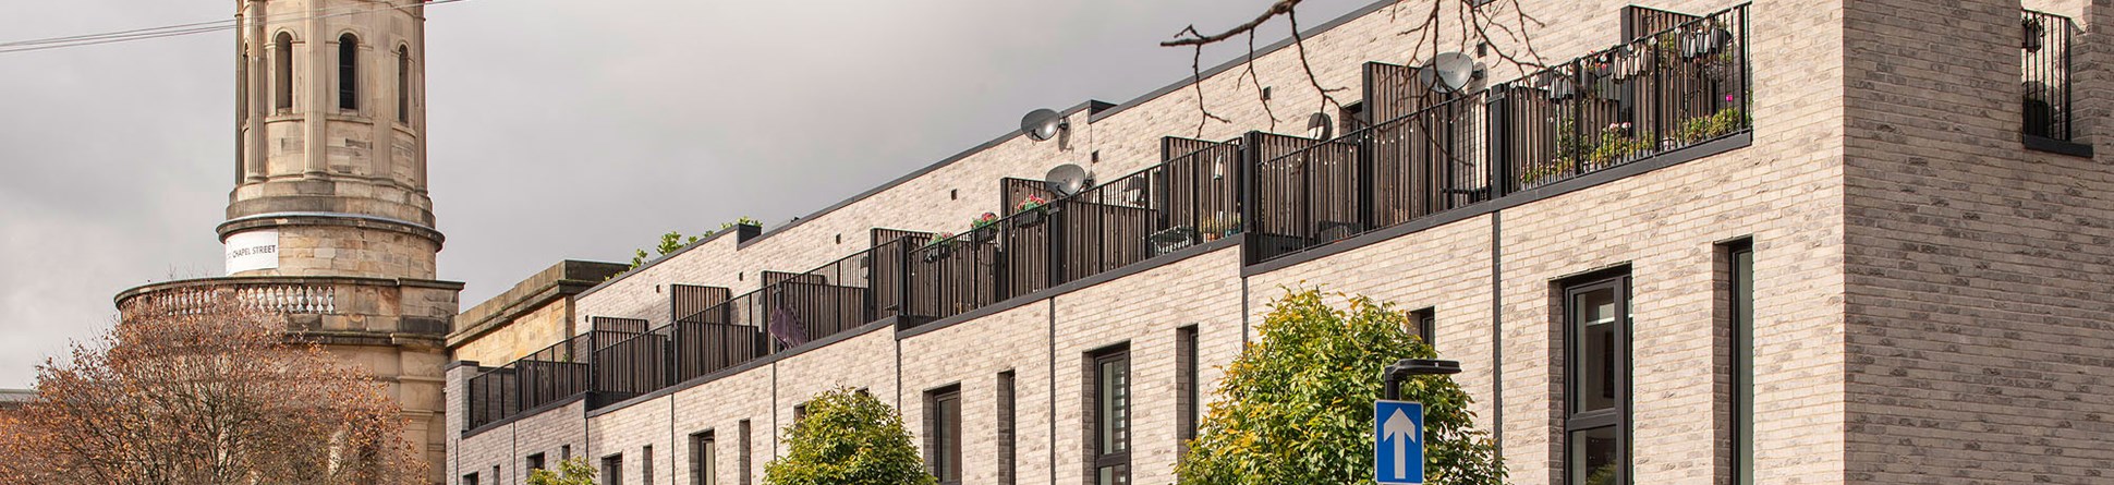
<svg viewBox="0 0 2114 485">
<path fill-rule="evenodd" d="M 1378 2 L 1254 78 L 558 265 L 457 318 L 446 477 L 761 483 L 850 385 L 947 483 L 1173 483 L 1218 366 L 1319 286 L 1416 311 L 1512 483 L 2110 481 L 2114 4 L 1520 4 L 1547 70 L 1465 42 L 1486 72 L 1433 91 Z"/>
</svg>

